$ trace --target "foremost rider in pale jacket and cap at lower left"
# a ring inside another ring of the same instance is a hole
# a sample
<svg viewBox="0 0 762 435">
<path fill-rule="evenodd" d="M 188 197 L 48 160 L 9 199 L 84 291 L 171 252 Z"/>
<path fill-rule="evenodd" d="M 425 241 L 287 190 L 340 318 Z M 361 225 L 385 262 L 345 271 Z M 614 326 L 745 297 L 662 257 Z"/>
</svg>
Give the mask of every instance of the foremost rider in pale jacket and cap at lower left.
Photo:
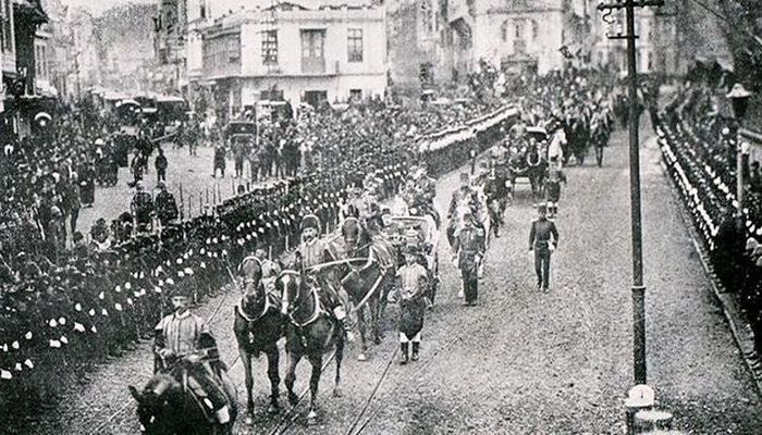
<svg viewBox="0 0 762 435">
<path fill-rule="evenodd" d="M 187 370 L 188 389 L 206 405 L 220 424 L 230 422 L 230 408 L 223 383 L 230 388 L 226 369 L 219 360 L 217 345 L 201 318 L 190 312 L 192 289 L 177 288 L 171 296 L 174 312 L 156 325 L 153 351 L 161 371 L 183 378 Z M 186 360 L 190 364 L 180 364 Z"/>
</svg>

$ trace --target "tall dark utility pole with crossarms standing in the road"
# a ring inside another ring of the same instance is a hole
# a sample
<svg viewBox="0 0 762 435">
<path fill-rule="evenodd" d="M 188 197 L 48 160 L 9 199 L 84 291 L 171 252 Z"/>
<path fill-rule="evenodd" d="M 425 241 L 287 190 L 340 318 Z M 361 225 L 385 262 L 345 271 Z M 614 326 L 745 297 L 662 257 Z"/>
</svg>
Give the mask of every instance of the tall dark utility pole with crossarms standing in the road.
<svg viewBox="0 0 762 435">
<path fill-rule="evenodd" d="M 625 10 L 626 34 L 606 35 L 610 39 L 627 40 L 627 75 L 629 90 L 629 178 L 630 178 L 630 219 L 632 233 L 632 372 L 635 383 L 646 384 L 646 286 L 643 286 L 643 241 L 642 220 L 640 213 L 640 147 L 638 138 L 638 71 L 635 51 L 635 8 L 661 7 L 663 0 L 624 0 L 615 3 L 601 3 L 599 11 L 605 11 L 603 21 L 613 10 Z"/>
</svg>

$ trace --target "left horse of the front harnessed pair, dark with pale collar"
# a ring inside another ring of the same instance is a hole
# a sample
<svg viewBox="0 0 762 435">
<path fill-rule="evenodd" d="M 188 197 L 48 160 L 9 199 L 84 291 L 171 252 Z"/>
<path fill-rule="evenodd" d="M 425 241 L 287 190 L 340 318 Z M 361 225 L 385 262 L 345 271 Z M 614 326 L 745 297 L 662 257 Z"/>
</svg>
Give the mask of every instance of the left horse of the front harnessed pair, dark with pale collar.
<svg viewBox="0 0 762 435">
<path fill-rule="evenodd" d="M 244 295 L 241 304 L 235 307 L 233 332 L 238 343 L 238 355 L 244 364 L 246 375 L 246 424 L 251 424 L 254 418 L 254 399 L 251 388 L 251 358 L 259 358 L 265 352 L 268 361 L 268 377 L 270 378 L 269 413 L 278 413 L 279 386 L 278 373 L 280 352 L 278 340 L 285 336 L 285 318 L 281 315 L 280 301 L 268 293 L 262 285 L 262 264 L 256 257 L 246 257 L 239 266 L 244 276 Z"/>
</svg>

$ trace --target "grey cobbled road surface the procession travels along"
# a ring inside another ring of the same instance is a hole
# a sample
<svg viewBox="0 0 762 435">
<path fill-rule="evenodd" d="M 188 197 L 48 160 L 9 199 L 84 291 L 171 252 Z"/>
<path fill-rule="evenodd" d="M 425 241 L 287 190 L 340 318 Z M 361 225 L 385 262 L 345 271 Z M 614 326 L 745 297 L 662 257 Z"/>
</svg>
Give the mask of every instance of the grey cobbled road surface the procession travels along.
<svg viewBox="0 0 762 435">
<path fill-rule="evenodd" d="M 622 402 L 631 384 L 629 195 L 626 135 L 617 132 L 604 167 L 569 167 L 557 226 L 552 291 L 534 288 L 527 251 L 534 216 L 528 186 L 506 212 L 507 227 L 488 253 L 480 306 L 465 308 L 442 247 L 443 288 L 427 319 L 421 360 L 393 364 L 367 415 L 366 434 L 607 434 L 622 433 Z M 642 150 L 643 239 L 649 382 L 678 428 L 696 434 L 758 435 L 762 403 L 728 325 L 711 296 L 693 253 L 653 140 Z M 206 178 L 201 178 L 206 179 Z M 444 208 L 457 174 L 438 184 Z M 446 245 L 446 244 L 445 244 Z M 235 358 L 231 333 L 233 297 L 199 309 L 221 314 L 211 324 L 223 359 Z M 389 310 L 390 318 L 394 309 Z M 388 326 L 391 327 L 391 326 Z M 369 362 L 349 349 L 343 397 L 332 398 L 332 376 L 321 382 L 320 424 L 307 427 L 305 403 L 290 434 L 344 434 L 397 348 L 386 334 Z M 285 359 L 282 359 L 282 361 Z M 284 369 L 283 369 L 284 370 Z M 126 386 L 151 372 L 149 347 L 103 366 L 56 411 L 40 415 L 28 433 L 136 433 Z M 256 368 L 257 415 L 241 434 L 271 433 L 278 419 L 265 413 L 269 386 L 265 361 Z M 333 365 L 327 373 L 333 372 Z M 239 364 L 231 370 L 243 383 Z M 308 364 L 297 372 L 306 388 Z M 243 386 L 239 396 L 244 397 Z"/>
</svg>

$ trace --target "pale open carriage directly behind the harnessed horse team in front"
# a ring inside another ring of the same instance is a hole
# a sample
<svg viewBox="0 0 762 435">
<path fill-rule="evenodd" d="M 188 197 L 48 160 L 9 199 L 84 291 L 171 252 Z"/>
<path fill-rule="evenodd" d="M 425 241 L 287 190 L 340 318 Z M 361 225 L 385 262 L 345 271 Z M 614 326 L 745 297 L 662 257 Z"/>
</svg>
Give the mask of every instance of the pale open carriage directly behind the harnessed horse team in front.
<svg viewBox="0 0 762 435">
<path fill-rule="evenodd" d="M 439 288 L 439 229 L 431 215 L 413 216 L 396 215 L 384 217 L 384 233 L 394 246 L 397 264 L 404 264 L 404 248 L 406 245 L 420 247 L 419 262 L 430 274 L 428 298 L 434 301 Z"/>
</svg>

